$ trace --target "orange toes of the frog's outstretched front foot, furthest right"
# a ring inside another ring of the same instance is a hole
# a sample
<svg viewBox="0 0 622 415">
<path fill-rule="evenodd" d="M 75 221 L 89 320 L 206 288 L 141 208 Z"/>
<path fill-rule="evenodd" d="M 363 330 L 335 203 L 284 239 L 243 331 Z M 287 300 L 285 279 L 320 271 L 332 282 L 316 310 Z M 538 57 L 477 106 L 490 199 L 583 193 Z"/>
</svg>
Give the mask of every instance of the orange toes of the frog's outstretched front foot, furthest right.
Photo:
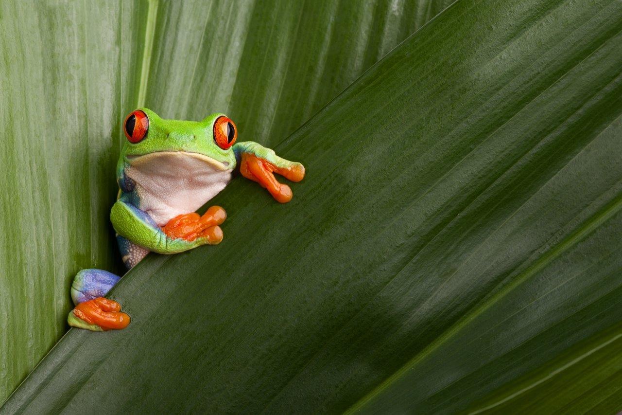
<svg viewBox="0 0 622 415">
<path fill-rule="evenodd" d="M 292 189 L 287 184 L 279 183 L 272 173 L 281 174 L 291 181 L 300 181 L 305 176 L 305 168 L 300 163 L 279 167 L 251 153 L 243 153 L 239 172 L 245 178 L 261 184 L 280 203 L 292 199 Z"/>
</svg>

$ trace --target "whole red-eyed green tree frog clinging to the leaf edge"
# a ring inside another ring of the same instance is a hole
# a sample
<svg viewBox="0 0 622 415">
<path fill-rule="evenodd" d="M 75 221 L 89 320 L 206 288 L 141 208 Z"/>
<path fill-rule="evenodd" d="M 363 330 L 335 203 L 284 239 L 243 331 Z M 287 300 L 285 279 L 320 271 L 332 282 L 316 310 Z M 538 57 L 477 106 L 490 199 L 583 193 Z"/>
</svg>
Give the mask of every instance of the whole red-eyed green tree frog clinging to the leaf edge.
<svg viewBox="0 0 622 415">
<path fill-rule="evenodd" d="M 236 142 L 238 129 L 224 114 L 200 122 L 163 120 L 147 108 L 123 123 L 127 138 L 117 164 L 119 196 L 110 219 L 123 262 L 130 269 L 149 253 L 175 254 L 223 239 L 225 209 L 195 213 L 231 181 L 238 170 L 287 203 L 292 191 L 273 173 L 300 181 L 305 169 L 252 141 Z M 67 321 L 94 331 L 125 328 L 130 317 L 104 298 L 120 277 L 104 270 L 81 270 L 71 294 L 76 307 Z"/>
</svg>

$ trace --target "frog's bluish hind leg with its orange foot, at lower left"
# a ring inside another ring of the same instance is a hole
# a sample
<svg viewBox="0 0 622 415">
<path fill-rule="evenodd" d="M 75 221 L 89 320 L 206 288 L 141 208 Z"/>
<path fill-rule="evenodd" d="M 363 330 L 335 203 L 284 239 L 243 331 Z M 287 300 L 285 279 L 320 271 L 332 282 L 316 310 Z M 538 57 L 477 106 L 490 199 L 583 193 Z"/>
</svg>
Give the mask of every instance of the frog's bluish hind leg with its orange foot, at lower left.
<svg viewBox="0 0 622 415">
<path fill-rule="evenodd" d="M 103 298 L 119 279 L 121 277 L 100 269 L 78 272 L 72 284 L 72 300 L 76 307 L 67 317 L 69 325 L 94 332 L 127 327 L 130 318 L 121 312 L 121 305 Z"/>
</svg>

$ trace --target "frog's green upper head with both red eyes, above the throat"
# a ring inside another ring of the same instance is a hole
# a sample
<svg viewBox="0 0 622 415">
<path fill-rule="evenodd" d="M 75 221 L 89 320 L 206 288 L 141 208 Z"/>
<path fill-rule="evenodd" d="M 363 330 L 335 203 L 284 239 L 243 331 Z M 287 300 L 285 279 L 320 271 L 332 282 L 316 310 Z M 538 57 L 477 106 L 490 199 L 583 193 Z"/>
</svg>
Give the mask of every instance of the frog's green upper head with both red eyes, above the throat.
<svg viewBox="0 0 622 415">
<path fill-rule="evenodd" d="M 177 121 L 139 108 L 128 115 L 123 130 L 127 140 L 121 156 L 129 165 L 161 163 L 171 156 L 172 160 L 202 161 L 218 171 L 230 171 L 236 165 L 232 146 L 238 130 L 224 114 L 212 114 L 200 122 Z"/>
</svg>

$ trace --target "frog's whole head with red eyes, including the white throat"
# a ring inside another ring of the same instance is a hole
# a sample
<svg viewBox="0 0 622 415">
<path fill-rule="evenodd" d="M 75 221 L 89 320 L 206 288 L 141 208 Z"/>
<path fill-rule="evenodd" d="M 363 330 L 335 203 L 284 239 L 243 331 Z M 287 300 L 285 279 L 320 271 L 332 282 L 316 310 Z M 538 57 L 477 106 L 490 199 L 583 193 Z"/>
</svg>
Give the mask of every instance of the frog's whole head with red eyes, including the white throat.
<svg viewBox="0 0 622 415">
<path fill-rule="evenodd" d="M 223 114 L 199 122 L 162 120 L 140 108 L 128 115 L 123 130 L 127 140 L 117 164 L 119 187 L 134 189 L 134 203 L 140 201 L 141 208 L 159 212 L 166 207 L 167 214 L 152 215 L 158 224 L 195 211 L 231 180 L 238 131 Z"/>
</svg>

